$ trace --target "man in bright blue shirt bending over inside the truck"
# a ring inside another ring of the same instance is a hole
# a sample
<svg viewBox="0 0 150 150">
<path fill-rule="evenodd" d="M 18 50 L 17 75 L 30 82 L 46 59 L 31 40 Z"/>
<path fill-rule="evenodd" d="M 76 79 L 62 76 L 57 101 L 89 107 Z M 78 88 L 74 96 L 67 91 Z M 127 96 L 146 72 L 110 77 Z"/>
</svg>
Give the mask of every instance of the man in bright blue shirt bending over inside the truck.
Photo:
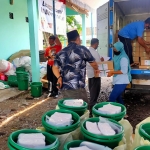
<svg viewBox="0 0 150 150">
<path fill-rule="evenodd" d="M 131 66 L 134 65 L 133 56 L 132 56 L 132 45 L 131 41 L 137 38 L 138 43 L 145 48 L 146 53 L 150 52 L 150 48 L 147 47 L 147 44 L 150 42 L 146 42 L 143 39 L 144 29 L 150 28 L 150 18 L 145 21 L 135 21 L 124 28 L 122 28 L 118 33 L 119 40 L 124 44 L 124 49 L 126 54 L 129 57 Z"/>
</svg>

